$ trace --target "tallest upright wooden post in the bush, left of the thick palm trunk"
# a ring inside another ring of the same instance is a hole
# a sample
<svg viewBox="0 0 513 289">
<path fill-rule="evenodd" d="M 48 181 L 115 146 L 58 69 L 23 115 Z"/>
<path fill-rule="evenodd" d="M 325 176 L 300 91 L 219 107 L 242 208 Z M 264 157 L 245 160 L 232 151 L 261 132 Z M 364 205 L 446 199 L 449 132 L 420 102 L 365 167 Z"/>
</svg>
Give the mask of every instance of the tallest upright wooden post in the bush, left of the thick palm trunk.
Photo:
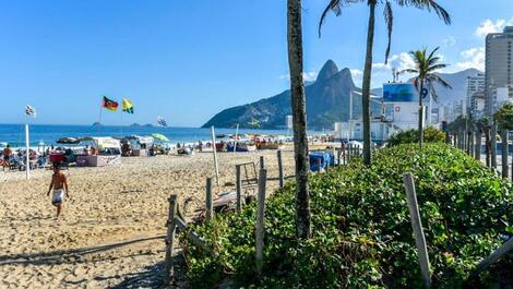
<svg viewBox="0 0 513 289">
<path fill-rule="evenodd" d="M 263 248 L 264 248 L 264 212 L 265 212 L 265 183 L 267 181 L 267 171 L 261 169 L 259 172 L 259 196 L 256 208 L 256 228 L 255 228 L 255 260 L 256 273 L 262 272 Z"/>
</svg>

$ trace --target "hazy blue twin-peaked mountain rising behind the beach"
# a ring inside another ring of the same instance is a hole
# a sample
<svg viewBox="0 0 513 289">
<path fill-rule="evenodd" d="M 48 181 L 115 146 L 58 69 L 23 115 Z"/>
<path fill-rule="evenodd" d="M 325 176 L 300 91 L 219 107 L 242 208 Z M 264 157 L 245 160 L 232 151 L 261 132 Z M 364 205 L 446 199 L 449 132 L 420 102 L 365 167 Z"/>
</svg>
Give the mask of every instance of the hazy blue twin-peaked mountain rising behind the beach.
<svg viewBox="0 0 513 289">
<path fill-rule="evenodd" d="M 470 72 L 468 73 L 470 74 Z M 456 83 L 466 83 L 466 75 Z M 454 85 L 453 85 L 454 86 Z M 326 61 L 314 83 L 306 84 L 307 121 L 310 129 L 332 128 L 334 122 L 348 121 L 350 91 L 361 92 L 353 82 L 349 69 L 338 70 L 335 62 Z M 354 118 L 361 115 L 361 98 L 353 96 Z M 444 98 L 440 94 L 440 98 Z M 371 101 L 372 112 L 379 113 L 380 106 Z M 261 129 L 283 129 L 286 116 L 291 115 L 290 91 L 243 106 L 227 108 L 210 119 L 203 128 L 250 128 L 252 120 L 260 122 Z M 374 115 L 374 113 L 372 113 Z"/>
</svg>

